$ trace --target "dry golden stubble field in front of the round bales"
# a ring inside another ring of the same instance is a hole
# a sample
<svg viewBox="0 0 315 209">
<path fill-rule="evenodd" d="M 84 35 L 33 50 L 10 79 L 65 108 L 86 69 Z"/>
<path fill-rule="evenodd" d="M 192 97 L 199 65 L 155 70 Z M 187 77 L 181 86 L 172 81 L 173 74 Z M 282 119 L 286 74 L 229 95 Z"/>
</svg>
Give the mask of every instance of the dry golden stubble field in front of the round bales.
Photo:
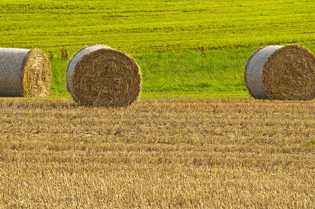
<svg viewBox="0 0 315 209">
<path fill-rule="evenodd" d="M 315 102 L 0 98 L 0 208 L 315 208 Z"/>
</svg>

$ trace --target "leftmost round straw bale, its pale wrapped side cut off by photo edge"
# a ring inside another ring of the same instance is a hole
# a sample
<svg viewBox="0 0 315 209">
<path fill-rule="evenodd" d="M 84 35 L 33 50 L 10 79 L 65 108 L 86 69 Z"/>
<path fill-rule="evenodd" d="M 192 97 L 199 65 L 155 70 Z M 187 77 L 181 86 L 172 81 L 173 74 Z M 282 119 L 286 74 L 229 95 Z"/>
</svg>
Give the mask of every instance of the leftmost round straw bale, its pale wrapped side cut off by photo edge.
<svg viewBox="0 0 315 209">
<path fill-rule="evenodd" d="M 0 96 L 44 97 L 49 95 L 52 72 L 41 49 L 0 48 Z"/>
</svg>

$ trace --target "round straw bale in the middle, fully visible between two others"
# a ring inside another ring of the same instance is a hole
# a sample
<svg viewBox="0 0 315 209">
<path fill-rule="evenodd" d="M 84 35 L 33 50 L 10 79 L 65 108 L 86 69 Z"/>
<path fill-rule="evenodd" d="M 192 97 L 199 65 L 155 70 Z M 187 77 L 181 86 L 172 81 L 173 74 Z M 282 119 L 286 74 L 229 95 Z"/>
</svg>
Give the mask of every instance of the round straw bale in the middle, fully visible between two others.
<svg viewBox="0 0 315 209">
<path fill-rule="evenodd" d="M 140 67 L 131 56 L 105 45 L 90 45 L 72 57 L 68 91 L 86 106 L 125 107 L 141 93 Z"/>
</svg>

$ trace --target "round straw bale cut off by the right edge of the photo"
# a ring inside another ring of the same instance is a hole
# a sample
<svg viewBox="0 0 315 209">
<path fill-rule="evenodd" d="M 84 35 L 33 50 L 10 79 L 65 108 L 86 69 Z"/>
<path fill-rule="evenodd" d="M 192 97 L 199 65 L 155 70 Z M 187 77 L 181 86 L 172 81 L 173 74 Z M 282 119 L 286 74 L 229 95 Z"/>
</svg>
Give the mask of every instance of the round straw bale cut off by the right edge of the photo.
<svg viewBox="0 0 315 209">
<path fill-rule="evenodd" d="M 257 99 L 313 100 L 315 56 L 300 45 L 261 47 L 249 57 L 244 78 Z"/>
</svg>

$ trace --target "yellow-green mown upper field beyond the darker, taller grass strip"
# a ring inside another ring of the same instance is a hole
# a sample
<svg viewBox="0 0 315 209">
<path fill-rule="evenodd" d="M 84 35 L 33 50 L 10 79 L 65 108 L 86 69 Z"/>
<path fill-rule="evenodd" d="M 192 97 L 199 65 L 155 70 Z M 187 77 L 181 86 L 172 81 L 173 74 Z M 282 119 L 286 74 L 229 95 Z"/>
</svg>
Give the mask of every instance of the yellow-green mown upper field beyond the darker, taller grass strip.
<svg viewBox="0 0 315 209">
<path fill-rule="evenodd" d="M 129 54 L 314 45 L 315 1 L 5 1 L 0 46 L 72 56 L 90 44 Z"/>
</svg>

